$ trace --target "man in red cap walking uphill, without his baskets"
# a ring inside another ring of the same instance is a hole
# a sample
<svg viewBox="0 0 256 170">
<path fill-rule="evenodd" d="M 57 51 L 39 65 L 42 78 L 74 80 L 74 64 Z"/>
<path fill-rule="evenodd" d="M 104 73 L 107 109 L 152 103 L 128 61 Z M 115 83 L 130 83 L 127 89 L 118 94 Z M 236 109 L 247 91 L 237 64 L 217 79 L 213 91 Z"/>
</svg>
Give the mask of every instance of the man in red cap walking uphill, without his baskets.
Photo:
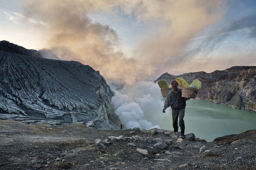
<svg viewBox="0 0 256 170">
<path fill-rule="evenodd" d="M 176 80 L 173 80 L 171 85 L 173 90 L 170 90 L 167 94 L 163 113 L 165 113 L 166 108 L 171 106 L 174 132 L 178 132 L 179 125 L 181 128 L 180 138 L 184 139 L 185 124 L 183 118 L 185 115 L 186 100 L 188 98 L 181 97 L 181 89 L 178 88 L 178 82 Z"/>
</svg>

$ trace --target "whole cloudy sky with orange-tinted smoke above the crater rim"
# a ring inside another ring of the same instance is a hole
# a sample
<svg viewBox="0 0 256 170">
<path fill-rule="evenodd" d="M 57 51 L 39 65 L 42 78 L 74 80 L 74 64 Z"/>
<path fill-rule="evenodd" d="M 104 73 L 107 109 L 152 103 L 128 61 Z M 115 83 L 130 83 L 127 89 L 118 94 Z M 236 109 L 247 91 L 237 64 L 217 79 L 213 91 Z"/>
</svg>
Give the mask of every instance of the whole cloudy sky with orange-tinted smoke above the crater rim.
<svg viewBox="0 0 256 170">
<path fill-rule="evenodd" d="M 255 0 L 1 0 L 0 23 L 0 40 L 113 81 L 256 65 Z"/>
</svg>

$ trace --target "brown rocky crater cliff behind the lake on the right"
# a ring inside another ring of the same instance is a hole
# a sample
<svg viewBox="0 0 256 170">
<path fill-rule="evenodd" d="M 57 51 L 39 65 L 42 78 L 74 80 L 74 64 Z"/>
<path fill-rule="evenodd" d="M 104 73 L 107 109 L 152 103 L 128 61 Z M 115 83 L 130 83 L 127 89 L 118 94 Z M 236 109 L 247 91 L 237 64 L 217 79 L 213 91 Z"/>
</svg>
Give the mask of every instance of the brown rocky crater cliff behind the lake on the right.
<svg viewBox="0 0 256 170">
<path fill-rule="evenodd" d="M 178 76 L 165 73 L 155 82 L 165 79 L 170 83 L 177 77 L 184 77 L 189 83 L 193 82 L 193 79 L 199 79 L 202 82 L 202 88 L 197 95 L 198 99 L 256 113 L 256 66 L 234 66 L 212 73 L 200 71 Z"/>
</svg>

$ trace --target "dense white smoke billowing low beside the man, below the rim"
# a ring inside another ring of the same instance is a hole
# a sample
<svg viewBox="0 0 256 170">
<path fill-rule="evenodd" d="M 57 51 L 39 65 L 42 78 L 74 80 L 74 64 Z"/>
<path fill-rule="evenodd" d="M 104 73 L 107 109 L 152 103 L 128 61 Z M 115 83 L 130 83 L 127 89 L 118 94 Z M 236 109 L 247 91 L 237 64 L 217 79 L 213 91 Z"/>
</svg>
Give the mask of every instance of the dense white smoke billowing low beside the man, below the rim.
<svg viewBox="0 0 256 170">
<path fill-rule="evenodd" d="M 127 128 L 161 128 L 161 121 L 170 119 L 169 113 L 162 113 L 164 99 L 154 82 L 125 85 L 121 91 L 115 91 L 112 103 L 116 115 Z"/>
</svg>

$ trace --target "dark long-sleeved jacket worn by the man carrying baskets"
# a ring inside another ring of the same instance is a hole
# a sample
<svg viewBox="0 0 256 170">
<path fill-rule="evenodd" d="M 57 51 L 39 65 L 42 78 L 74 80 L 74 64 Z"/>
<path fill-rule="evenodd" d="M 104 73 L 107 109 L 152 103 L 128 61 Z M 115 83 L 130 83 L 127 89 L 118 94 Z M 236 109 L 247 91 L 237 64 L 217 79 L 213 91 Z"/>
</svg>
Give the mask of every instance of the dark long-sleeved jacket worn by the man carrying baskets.
<svg viewBox="0 0 256 170">
<path fill-rule="evenodd" d="M 177 92 L 170 90 L 164 102 L 164 110 L 171 106 L 172 109 L 183 109 L 186 107 L 186 99 L 181 97 L 181 89 Z"/>
</svg>

